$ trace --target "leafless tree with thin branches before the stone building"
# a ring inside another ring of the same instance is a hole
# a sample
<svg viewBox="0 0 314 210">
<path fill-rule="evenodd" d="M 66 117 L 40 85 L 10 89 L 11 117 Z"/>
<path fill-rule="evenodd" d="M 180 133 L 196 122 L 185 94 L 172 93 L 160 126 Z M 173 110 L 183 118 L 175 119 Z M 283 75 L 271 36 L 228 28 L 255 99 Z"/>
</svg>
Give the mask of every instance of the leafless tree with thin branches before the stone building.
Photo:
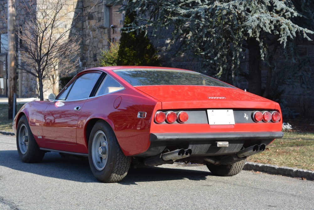
<svg viewBox="0 0 314 210">
<path fill-rule="evenodd" d="M 36 4 L 24 0 L 21 4 L 24 14 L 30 18 L 22 26 L 20 39 L 19 69 L 38 78 L 39 95 L 43 100 L 43 84 L 51 82 L 53 92 L 59 75 L 68 75 L 76 71 L 80 40 L 71 36 L 71 30 L 79 21 L 80 14 L 74 9 L 65 9 L 66 0 L 50 2 L 37 1 Z M 72 15 L 72 17 L 71 17 Z"/>
</svg>

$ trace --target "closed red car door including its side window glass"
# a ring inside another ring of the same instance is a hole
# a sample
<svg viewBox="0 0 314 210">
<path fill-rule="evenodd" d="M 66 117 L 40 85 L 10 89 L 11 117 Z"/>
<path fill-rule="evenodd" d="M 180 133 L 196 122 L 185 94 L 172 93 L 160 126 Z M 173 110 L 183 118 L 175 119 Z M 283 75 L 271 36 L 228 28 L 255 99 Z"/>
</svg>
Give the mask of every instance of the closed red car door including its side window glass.
<svg viewBox="0 0 314 210">
<path fill-rule="evenodd" d="M 67 85 L 44 113 L 43 134 L 48 142 L 76 144 L 76 127 L 85 100 L 89 97 L 100 73 L 78 76 Z"/>
</svg>

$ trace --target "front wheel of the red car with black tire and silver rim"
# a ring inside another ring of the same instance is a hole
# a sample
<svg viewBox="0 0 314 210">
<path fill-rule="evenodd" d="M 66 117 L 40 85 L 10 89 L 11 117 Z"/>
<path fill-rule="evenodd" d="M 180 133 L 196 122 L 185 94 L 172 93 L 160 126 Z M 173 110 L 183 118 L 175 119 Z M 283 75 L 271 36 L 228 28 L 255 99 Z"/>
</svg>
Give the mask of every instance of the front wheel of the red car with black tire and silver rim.
<svg viewBox="0 0 314 210">
<path fill-rule="evenodd" d="M 45 155 L 45 152 L 39 149 L 25 115 L 19 119 L 16 146 L 24 163 L 39 163 Z"/>
</svg>

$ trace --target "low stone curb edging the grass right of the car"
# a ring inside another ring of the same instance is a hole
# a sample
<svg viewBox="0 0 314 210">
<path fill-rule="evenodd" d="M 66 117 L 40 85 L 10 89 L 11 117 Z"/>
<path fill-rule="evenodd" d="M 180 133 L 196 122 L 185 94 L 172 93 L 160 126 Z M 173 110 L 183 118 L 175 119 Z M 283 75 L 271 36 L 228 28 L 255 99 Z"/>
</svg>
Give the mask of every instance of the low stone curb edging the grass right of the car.
<svg viewBox="0 0 314 210">
<path fill-rule="evenodd" d="M 314 171 L 304 170 L 304 169 L 295 169 L 286 166 L 276 166 L 270 164 L 261 164 L 261 163 L 253 163 L 253 162 L 246 162 L 244 165 L 243 170 L 254 170 L 254 171 L 261 171 L 266 172 L 268 174 L 276 174 L 276 175 L 283 175 L 283 176 L 290 176 L 290 177 L 300 177 L 305 178 L 306 180 L 314 180 Z"/>
</svg>

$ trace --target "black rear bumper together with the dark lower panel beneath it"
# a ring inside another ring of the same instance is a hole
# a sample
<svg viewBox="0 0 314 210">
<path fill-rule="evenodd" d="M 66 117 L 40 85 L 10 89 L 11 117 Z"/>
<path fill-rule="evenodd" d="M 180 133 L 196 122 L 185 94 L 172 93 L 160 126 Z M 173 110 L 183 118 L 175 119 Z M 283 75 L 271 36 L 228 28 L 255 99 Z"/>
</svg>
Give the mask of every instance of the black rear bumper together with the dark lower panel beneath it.
<svg viewBox="0 0 314 210">
<path fill-rule="evenodd" d="M 273 139 L 283 137 L 282 131 L 270 132 L 225 132 L 225 133 L 151 133 L 148 150 L 137 157 L 150 157 L 177 148 L 191 149 L 191 157 L 235 154 L 243 147 L 268 145 Z M 217 147 L 215 142 L 228 141 L 228 147 Z"/>
</svg>

